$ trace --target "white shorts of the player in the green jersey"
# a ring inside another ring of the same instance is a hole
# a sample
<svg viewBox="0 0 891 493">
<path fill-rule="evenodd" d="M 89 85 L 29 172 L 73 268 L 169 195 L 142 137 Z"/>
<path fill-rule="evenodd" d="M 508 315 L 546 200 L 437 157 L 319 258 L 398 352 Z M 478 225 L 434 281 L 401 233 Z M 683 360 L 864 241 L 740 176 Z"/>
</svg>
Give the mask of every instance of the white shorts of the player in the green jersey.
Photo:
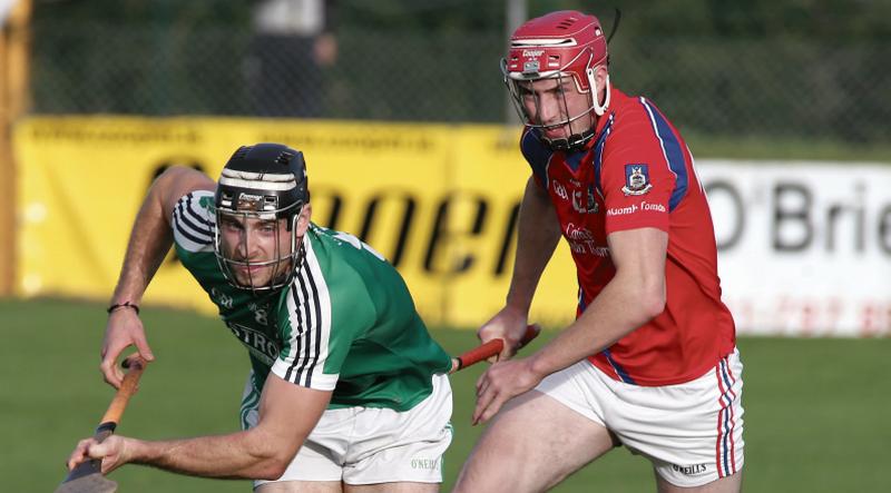
<svg viewBox="0 0 891 493">
<path fill-rule="evenodd" d="M 242 426 L 258 418 L 256 391 L 247 378 Z M 378 407 L 327 410 L 306 437 L 281 481 L 342 481 L 346 484 L 441 483 L 442 459 L 452 441 L 452 391 L 447 375 L 433 375 L 433 392 L 405 412 Z M 246 428 L 245 427 L 245 428 Z M 255 481 L 254 487 L 270 481 Z"/>
</svg>

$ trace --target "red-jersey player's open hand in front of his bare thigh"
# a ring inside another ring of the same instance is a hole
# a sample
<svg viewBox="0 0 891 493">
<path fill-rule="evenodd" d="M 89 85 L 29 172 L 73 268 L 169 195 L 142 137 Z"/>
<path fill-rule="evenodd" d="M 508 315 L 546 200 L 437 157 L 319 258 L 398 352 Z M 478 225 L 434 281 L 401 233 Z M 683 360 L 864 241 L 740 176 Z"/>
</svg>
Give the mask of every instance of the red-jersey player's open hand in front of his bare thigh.
<svg viewBox="0 0 891 493">
<path fill-rule="evenodd" d="M 477 381 L 472 424 L 486 423 L 506 402 L 535 388 L 541 378 L 532 371 L 530 358 L 493 364 Z"/>
</svg>

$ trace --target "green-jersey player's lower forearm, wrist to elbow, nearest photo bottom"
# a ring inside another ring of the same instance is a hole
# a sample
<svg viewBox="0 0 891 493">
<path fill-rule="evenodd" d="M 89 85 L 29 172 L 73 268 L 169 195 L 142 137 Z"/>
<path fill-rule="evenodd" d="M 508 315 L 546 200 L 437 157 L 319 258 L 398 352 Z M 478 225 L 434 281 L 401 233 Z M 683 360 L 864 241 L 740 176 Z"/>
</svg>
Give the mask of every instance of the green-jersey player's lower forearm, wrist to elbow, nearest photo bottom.
<svg viewBox="0 0 891 493">
<path fill-rule="evenodd" d="M 278 479 L 291 457 L 276 454 L 275 441 L 257 440 L 251 433 L 165 442 L 131 440 L 133 452 L 128 462 L 190 476 Z"/>
</svg>

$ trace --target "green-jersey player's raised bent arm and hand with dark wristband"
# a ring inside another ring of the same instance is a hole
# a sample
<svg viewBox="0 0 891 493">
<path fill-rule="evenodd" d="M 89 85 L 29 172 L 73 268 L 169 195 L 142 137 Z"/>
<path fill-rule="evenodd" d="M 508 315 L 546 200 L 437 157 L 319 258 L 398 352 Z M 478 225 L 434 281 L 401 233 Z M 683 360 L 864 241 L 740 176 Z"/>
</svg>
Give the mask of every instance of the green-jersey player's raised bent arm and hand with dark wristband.
<svg viewBox="0 0 891 493">
<path fill-rule="evenodd" d="M 170 216 L 176 201 L 190 191 L 214 188 L 214 181 L 199 171 L 185 167 L 169 168 L 151 185 L 136 215 L 110 302 L 110 306 L 118 307 L 108 316 L 99 366 L 105 381 L 116 388 L 120 386 L 124 374 L 115 363 L 127 346 L 136 346 L 144 358 L 154 359 L 143 323 L 131 305 L 139 305 L 148 283 L 173 245 Z M 127 306 L 120 306 L 124 304 Z"/>
</svg>

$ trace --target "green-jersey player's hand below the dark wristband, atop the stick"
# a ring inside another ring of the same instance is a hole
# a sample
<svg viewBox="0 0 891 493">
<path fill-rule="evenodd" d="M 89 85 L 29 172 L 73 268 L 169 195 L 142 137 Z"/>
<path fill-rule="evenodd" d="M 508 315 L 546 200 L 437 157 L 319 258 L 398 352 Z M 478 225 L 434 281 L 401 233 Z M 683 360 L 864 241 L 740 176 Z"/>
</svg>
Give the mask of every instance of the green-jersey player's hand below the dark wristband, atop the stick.
<svg viewBox="0 0 891 493">
<path fill-rule="evenodd" d="M 108 315 L 105 338 L 102 338 L 102 363 L 99 364 L 102 377 L 115 388 L 119 388 L 124 381 L 124 372 L 117 365 L 118 356 L 129 346 L 136 346 L 136 351 L 145 361 L 155 361 L 139 315 L 136 310 L 119 308 Z"/>
</svg>

